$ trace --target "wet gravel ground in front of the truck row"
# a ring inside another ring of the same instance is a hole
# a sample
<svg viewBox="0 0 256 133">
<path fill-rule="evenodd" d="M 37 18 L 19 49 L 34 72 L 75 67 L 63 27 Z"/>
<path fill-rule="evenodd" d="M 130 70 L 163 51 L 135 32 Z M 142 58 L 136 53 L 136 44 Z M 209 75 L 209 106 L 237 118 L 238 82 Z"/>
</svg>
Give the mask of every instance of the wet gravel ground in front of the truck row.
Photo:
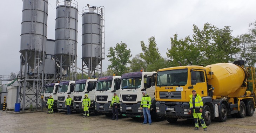
<svg viewBox="0 0 256 133">
<path fill-rule="evenodd" d="M 177 123 L 170 124 L 166 120 L 152 122 L 152 125 L 141 125 L 142 119 L 119 118 L 110 120 L 105 115 L 83 118 L 82 114 L 65 112 L 47 114 L 47 112 L 9 114 L 0 112 L 0 133 L 143 133 L 143 132 L 204 132 L 202 127 L 194 131 L 193 120 L 178 119 Z M 256 114 L 252 117 L 231 118 L 220 123 L 212 121 L 207 127 L 208 132 L 214 133 L 256 133 Z"/>
</svg>

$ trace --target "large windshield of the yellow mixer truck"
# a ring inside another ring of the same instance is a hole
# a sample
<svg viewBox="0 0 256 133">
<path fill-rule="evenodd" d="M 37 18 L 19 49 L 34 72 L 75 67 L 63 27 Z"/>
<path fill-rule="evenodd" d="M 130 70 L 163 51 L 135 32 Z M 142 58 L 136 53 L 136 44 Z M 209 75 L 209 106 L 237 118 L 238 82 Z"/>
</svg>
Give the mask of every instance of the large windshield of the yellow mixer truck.
<svg viewBox="0 0 256 133">
<path fill-rule="evenodd" d="M 157 72 L 156 86 L 182 86 L 188 81 L 188 69 Z"/>
</svg>

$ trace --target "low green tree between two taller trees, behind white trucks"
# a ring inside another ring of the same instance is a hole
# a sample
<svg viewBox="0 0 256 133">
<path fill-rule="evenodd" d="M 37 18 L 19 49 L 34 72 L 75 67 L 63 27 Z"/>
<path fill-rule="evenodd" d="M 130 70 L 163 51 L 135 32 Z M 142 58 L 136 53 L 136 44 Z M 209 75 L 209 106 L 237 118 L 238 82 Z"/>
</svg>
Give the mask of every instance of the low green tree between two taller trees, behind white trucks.
<svg viewBox="0 0 256 133">
<path fill-rule="evenodd" d="M 147 71 L 147 62 L 143 61 L 142 58 L 140 58 L 140 54 L 135 55 L 135 57 L 133 57 L 131 63 L 130 63 L 130 71 L 131 72 L 136 72 L 136 71 L 140 71 L 141 68 L 144 69 L 144 71 Z"/>
</svg>

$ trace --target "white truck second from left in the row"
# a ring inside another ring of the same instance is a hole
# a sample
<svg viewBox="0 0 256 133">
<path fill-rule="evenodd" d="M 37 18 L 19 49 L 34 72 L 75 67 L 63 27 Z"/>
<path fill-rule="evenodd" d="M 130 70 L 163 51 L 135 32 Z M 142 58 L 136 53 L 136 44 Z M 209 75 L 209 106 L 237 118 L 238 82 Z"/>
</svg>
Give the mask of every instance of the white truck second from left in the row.
<svg viewBox="0 0 256 133">
<path fill-rule="evenodd" d="M 59 83 L 59 89 L 57 93 L 57 109 L 60 111 L 67 111 L 66 99 L 69 96 L 72 98 L 70 109 L 73 110 L 73 93 L 74 93 L 75 81 L 63 81 Z"/>
</svg>

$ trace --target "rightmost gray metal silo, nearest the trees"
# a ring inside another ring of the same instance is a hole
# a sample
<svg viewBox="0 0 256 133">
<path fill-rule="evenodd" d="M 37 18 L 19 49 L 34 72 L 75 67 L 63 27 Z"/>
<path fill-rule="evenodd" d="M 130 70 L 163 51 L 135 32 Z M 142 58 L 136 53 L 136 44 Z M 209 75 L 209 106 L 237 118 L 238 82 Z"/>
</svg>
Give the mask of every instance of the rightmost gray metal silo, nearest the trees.
<svg viewBox="0 0 256 133">
<path fill-rule="evenodd" d="M 104 7 L 82 8 L 82 69 L 89 77 L 102 74 L 102 59 L 105 59 Z M 82 70 L 82 74 L 83 74 Z"/>
</svg>

